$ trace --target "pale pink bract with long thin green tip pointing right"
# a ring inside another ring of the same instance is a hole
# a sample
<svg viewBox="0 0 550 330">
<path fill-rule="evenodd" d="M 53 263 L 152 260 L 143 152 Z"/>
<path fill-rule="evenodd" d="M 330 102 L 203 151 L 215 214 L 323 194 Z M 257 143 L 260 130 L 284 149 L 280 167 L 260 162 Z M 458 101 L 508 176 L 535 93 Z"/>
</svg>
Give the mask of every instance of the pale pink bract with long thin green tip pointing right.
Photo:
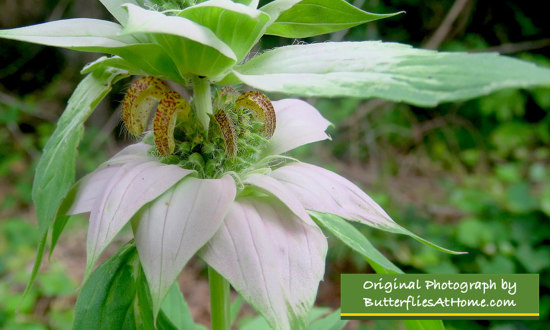
<svg viewBox="0 0 550 330">
<path fill-rule="evenodd" d="M 429 242 L 398 225 L 367 194 L 338 174 L 306 163 L 291 163 L 271 176 L 294 192 L 307 210 L 336 214 L 346 220 L 404 234 L 438 250 L 459 254 Z"/>
</svg>

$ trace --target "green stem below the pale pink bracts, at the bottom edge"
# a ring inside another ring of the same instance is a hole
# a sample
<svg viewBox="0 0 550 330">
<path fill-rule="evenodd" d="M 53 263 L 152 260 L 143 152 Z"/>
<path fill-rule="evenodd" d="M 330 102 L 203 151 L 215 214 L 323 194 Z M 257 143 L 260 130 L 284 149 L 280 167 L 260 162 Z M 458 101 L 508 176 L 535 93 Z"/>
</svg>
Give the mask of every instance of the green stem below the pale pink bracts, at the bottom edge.
<svg viewBox="0 0 550 330">
<path fill-rule="evenodd" d="M 229 282 L 212 267 L 208 267 L 208 282 L 210 283 L 212 330 L 230 330 Z"/>
</svg>

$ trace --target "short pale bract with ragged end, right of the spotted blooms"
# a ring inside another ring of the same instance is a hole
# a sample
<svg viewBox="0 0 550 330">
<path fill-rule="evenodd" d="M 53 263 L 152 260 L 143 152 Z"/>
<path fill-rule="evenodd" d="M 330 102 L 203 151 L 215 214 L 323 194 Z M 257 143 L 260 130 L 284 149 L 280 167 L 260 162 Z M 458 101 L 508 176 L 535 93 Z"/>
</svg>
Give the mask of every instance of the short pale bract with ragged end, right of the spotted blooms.
<svg viewBox="0 0 550 330">
<path fill-rule="evenodd" d="M 307 102 L 297 99 L 274 101 L 277 119 L 267 153 L 277 155 L 304 144 L 329 139 L 325 130 L 330 122 Z"/>
</svg>

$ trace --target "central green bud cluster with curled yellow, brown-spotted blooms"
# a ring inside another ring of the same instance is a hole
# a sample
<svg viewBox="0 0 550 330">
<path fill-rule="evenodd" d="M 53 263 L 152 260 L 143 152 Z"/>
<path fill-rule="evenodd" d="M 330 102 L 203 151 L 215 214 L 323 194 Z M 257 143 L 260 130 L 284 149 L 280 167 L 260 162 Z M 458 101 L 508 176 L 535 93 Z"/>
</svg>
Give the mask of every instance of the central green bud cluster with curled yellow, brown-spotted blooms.
<svg viewBox="0 0 550 330">
<path fill-rule="evenodd" d="M 202 178 L 239 173 L 257 163 L 275 131 L 275 110 L 264 94 L 240 94 L 224 87 L 213 100 L 214 114 L 205 130 L 194 111 L 160 79 L 142 77 L 126 93 L 123 119 L 128 132 L 140 135 L 154 115 L 153 134 L 145 142 L 164 163 L 197 171 Z"/>
</svg>

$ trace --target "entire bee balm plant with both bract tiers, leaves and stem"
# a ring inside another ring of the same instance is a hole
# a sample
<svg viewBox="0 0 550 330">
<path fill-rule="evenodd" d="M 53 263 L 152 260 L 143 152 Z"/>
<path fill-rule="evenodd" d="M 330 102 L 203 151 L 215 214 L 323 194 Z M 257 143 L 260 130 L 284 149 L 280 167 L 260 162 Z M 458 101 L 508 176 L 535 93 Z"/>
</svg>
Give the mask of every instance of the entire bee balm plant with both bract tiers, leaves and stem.
<svg viewBox="0 0 550 330">
<path fill-rule="evenodd" d="M 320 227 L 375 271 L 401 272 L 344 219 L 453 253 L 399 226 L 343 177 L 284 155 L 328 138 L 329 122 L 311 105 L 271 102 L 262 92 L 230 86 L 424 107 L 550 85 L 550 70 L 517 59 L 380 41 L 290 45 L 250 56 L 266 34 L 308 38 L 398 14 L 372 14 L 345 0 L 274 0 L 260 7 L 257 0 L 100 2 L 118 23 L 77 18 L 0 30 L 0 38 L 110 55 L 83 68 L 86 77 L 48 140 L 33 183 L 41 239 L 26 292 L 49 234 L 51 251 L 67 214 L 90 213 L 75 329 L 195 327 L 182 316 L 186 304 L 172 286 L 193 255 L 209 265 L 213 329 L 231 327 L 227 281 L 271 327 L 306 328 L 325 267 Z M 73 186 L 84 122 L 131 75 L 141 78 L 126 93 L 123 120 L 140 142 Z M 192 98 L 167 81 L 191 87 Z M 128 223 L 135 242 L 92 272 Z"/>
</svg>

